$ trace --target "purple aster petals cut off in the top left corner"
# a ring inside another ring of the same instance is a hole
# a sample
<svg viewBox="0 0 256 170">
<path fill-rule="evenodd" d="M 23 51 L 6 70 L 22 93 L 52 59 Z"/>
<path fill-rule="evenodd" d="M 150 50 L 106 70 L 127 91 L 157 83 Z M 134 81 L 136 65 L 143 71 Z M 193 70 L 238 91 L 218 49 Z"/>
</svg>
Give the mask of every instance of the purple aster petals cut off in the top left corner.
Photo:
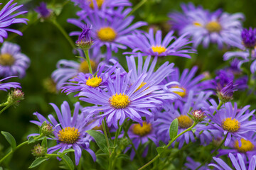
<svg viewBox="0 0 256 170">
<path fill-rule="evenodd" d="M 28 11 L 19 11 L 18 13 L 12 14 L 14 11 L 21 8 L 23 5 L 16 6 L 17 3 L 11 4 L 14 0 L 10 0 L 0 11 L 0 42 L 4 42 L 4 38 L 8 37 L 7 32 L 13 32 L 22 36 L 21 31 L 14 30 L 8 28 L 14 23 L 27 23 L 28 19 L 26 18 L 15 18 L 16 16 L 20 16 L 23 13 L 27 13 Z M 2 3 L 0 3 L 1 5 Z"/>
</svg>

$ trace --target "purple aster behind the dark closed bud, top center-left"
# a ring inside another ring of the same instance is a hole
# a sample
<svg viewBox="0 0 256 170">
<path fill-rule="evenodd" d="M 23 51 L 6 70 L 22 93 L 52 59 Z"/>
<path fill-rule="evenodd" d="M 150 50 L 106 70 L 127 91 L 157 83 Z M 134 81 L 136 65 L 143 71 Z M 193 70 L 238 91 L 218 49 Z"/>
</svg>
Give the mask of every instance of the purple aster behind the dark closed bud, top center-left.
<svg viewBox="0 0 256 170">
<path fill-rule="evenodd" d="M 92 40 L 94 44 L 92 47 L 107 47 L 107 60 L 112 57 L 112 51 L 117 52 L 118 48 L 126 49 L 123 45 L 123 40 L 129 33 L 141 26 L 146 26 L 145 22 L 137 22 L 132 26 L 129 26 L 134 16 L 127 16 L 130 9 L 127 8 L 122 11 L 122 16 L 99 16 L 97 13 L 89 13 L 87 17 L 82 18 L 85 23 L 92 25 Z M 126 18 L 124 18 L 127 16 Z M 75 26 L 82 28 L 84 25 L 82 21 L 78 19 L 68 19 L 69 23 L 73 23 Z M 80 32 L 75 31 L 70 35 L 80 35 Z"/>
</svg>

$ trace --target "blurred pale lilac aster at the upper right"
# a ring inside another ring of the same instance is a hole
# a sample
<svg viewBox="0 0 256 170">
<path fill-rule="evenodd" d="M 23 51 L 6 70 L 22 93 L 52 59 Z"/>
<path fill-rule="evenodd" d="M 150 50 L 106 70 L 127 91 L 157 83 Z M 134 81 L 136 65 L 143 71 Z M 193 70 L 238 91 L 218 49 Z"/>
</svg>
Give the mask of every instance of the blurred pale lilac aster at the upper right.
<svg viewBox="0 0 256 170">
<path fill-rule="evenodd" d="M 193 8 L 189 11 L 184 11 L 183 15 L 188 24 L 181 28 L 179 33 L 191 36 L 193 47 L 197 47 L 201 43 L 203 47 L 208 47 L 210 42 L 217 44 L 219 48 L 223 48 L 223 45 L 242 46 L 239 43 L 242 30 L 241 21 L 244 19 L 242 13 L 229 14 L 223 13 L 221 10 L 210 13 L 202 9 L 198 12 L 198 9 Z"/>
</svg>

